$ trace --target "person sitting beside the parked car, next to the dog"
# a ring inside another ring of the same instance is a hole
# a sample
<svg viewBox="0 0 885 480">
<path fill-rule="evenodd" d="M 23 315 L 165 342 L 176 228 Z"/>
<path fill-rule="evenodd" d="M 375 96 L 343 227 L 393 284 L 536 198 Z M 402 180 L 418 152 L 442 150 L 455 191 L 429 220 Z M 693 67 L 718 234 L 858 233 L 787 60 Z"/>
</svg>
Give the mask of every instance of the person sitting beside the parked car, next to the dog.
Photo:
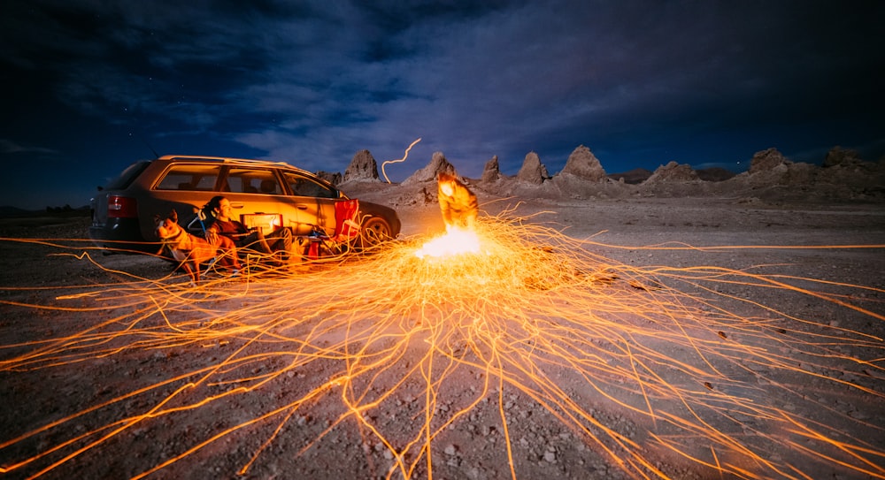
<svg viewBox="0 0 885 480">
<path fill-rule="evenodd" d="M 206 226 L 206 240 L 210 243 L 218 236 L 224 236 L 234 241 L 236 248 L 252 250 L 267 256 L 277 252 L 282 254 L 276 264 L 282 264 L 288 260 L 292 249 L 292 231 L 288 227 L 279 227 L 267 236 L 261 229 L 249 229 L 242 222 L 231 217 L 230 201 L 223 195 L 212 197 L 204 206 L 207 217 L 212 218 Z"/>
</svg>

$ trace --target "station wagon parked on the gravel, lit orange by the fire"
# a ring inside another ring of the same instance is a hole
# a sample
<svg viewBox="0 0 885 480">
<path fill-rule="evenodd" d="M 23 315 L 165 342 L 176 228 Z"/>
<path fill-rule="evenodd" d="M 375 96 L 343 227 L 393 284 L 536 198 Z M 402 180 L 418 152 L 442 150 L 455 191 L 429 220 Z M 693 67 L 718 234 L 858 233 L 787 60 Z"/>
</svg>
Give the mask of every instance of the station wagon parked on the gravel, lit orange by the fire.
<svg viewBox="0 0 885 480">
<path fill-rule="evenodd" d="M 161 156 L 129 165 L 91 200 L 89 238 L 104 248 L 158 250 L 155 218 L 176 210 L 199 233 L 196 212 L 215 195 L 247 226 L 288 226 L 296 236 L 335 232 L 335 202 L 348 197 L 324 179 L 285 163 L 214 156 Z M 359 202 L 363 247 L 396 238 L 396 211 Z"/>
</svg>

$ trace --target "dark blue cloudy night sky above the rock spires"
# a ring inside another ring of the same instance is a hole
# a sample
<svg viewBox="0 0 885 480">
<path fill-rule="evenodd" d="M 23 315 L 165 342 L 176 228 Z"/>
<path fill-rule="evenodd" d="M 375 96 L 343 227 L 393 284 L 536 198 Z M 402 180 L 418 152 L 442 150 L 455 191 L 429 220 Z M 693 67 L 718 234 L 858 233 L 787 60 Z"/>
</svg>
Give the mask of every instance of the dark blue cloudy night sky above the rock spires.
<svg viewBox="0 0 885 480">
<path fill-rule="evenodd" d="M 409 6 L 403 6 L 409 5 Z M 156 155 L 400 181 L 586 145 L 610 173 L 885 152 L 885 2 L 5 0 L 0 205 L 86 205 Z"/>
</svg>

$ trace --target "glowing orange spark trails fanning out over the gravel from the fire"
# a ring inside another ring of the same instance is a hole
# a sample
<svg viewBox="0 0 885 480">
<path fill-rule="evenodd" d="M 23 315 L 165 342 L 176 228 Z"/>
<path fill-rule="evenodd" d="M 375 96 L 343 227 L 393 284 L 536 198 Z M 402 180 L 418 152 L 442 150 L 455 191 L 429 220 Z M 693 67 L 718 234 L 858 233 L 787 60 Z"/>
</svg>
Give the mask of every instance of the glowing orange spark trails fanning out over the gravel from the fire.
<svg viewBox="0 0 885 480">
<path fill-rule="evenodd" d="M 59 477 L 103 461 L 121 476 L 177 476 L 220 457 L 239 459 L 237 471 L 215 476 L 313 465 L 300 474 L 431 478 L 482 451 L 495 476 L 513 478 L 543 471 L 529 455 L 555 466 L 579 454 L 585 470 L 569 475 L 813 478 L 826 466 L 885 478 L 881 425 L 839 415 L 843 430 L 801 413 L 830 408 L 834 399 L 809 393 L 824 383 L 842 385 L 842 401 L 881 405 L 882 340 L 785 307 L 821 302 L 881 322 L 845 293 L 881 290 L 632 267 L 530 220 L 482 217 L 449 232 L 469 239 L 408 238 L 335 268 L 196 287 L 132 278 L 33 305 L 82 302 L 107 320 L 4 346 L 7 377 L 103 362 L 133 374 L 107 378 L 80 409 L 4 431 L 2 471 Z M 165 362 L 185 356 L 189 369 Z M 848 371 L 869 375 L 849 381 Z M 180 434 L 158 450 L 152 432 L 170 429 Z M 330 450 L 342 460 L 315 463 Z M 131 467 L 129 456 L 152 460 Z"/>
</svg>

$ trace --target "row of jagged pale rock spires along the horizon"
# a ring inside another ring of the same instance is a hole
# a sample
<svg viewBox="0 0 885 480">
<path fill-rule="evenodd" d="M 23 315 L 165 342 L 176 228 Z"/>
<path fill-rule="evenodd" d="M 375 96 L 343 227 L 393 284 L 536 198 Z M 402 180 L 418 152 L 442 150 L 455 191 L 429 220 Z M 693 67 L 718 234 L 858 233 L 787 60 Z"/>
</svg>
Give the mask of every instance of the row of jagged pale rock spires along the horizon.
<svg viewBox="0 0 885 480">
<path fill-rule="evenodd" d="M 696 197 L 727 195 L 773 202 L 885 202 L 885 158 L 878 163 L 860 158 L 856 150 L 835 147 L 822 159 L 823 165 L 794 163 L 777 149 L 756 152 L 750 159 L 750 169 L 735 175 L 725 169 L 694 171 L 688 164 L 670 162 L 654 172 L 636 169 L 606 175 L 602 164 L 590 150 L 581 145 L 568 157 L 566 166 L 550 177 L 547 168 L 535 152 L 529 152 L 515 177 L 500 171 L 497 156 L 493 156 L 482 172 L 484 194 L 525 196 L 551 199 L 608 199 L 629 197 Z M 441 171 L 457 175 L 455 167 L 442 152 L 435 152 L 430 164 L 401 184 L 399 197 L 390 198 L 387 190 L 373 181 L 378 179 L 374 160 L 366 150 L 354 156 L 344 180 L 350 182 L 350 194 L 381 194 L 388 202 L 402 205 L 432 203 L 436 180 Z M 318 172 L 319 176 L 338 185 L 339 173 Z M 463 178 L 462 178 L 463 179 Z M 465 179 L 466 180 L 466 179 Z M 644 181 L 643 181 L 644 180 Z"/>
</svg>

